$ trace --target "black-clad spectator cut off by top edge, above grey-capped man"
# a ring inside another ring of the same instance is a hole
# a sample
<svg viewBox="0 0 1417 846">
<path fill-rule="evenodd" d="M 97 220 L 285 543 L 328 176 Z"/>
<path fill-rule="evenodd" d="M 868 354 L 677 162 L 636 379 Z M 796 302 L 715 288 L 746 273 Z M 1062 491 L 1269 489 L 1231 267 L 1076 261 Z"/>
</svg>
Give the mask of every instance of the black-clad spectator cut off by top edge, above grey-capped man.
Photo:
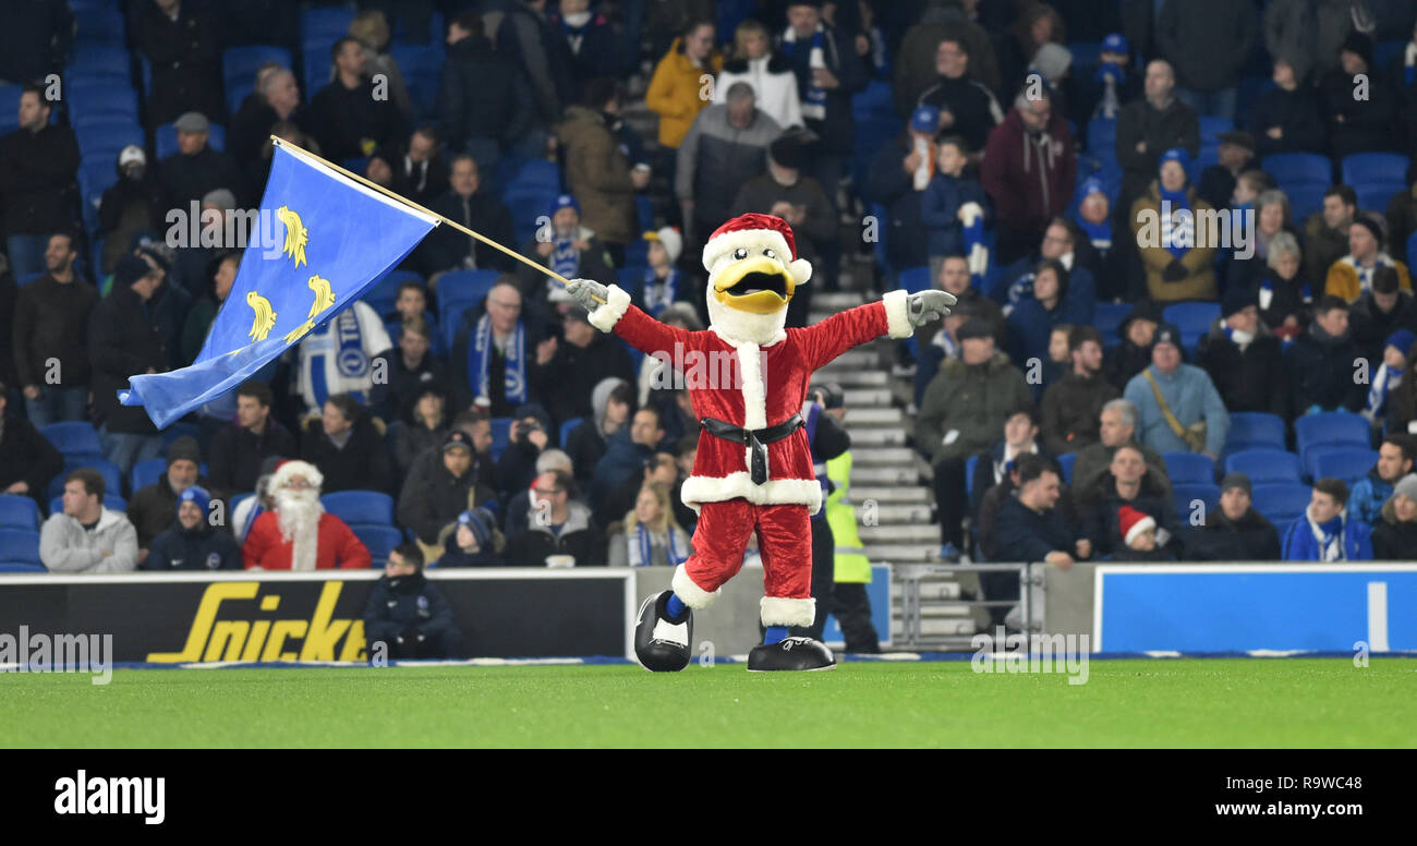
<svg viewBox="0 0 1417 846">
<path fill-rule="evenodd" d="M 227 122 L 221 48 L 205 4 L 180 3 L 173 18 L 152 0 L 129 3 L 128 37 L 153 67 L 147 126 L 171 123 L 183 112 Z"/>
</svg>

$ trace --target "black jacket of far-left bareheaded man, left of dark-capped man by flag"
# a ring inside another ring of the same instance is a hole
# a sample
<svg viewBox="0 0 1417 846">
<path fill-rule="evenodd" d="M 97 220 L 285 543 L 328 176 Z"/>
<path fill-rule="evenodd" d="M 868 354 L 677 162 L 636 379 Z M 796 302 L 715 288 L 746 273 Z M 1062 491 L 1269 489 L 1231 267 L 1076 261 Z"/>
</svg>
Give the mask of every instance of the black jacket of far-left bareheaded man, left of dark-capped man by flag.
<svg viewBox="0 0 1417 846">
<path fill-rule="evenodd" d="M 60 363 L 61 384 L 89 384 L 89 315 L 98 302 L 92 285 L 60 283 L 48 273 L 20 289 L 14 305 L 17 387 L 48 384 L 51 359 Z"/>
</svg>

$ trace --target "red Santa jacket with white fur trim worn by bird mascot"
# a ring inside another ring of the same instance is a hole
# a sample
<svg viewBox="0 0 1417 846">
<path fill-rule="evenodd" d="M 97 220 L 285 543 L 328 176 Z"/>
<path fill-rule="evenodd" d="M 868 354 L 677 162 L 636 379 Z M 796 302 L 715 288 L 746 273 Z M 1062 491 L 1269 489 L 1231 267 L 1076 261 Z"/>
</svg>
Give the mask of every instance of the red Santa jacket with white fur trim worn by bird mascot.
<svg viewBox="0 0 1417 846">
<path fill-rule="evenodd" d="M 597 326 L 614 326 L 632 347 L 682 373 L 679 384 L 689 388 L 700 419 L 711 417 L 745 429 L 772 427 L 802 411 L 812 374 L 846 350 L 881 334 L 907 337 L 913 332 L 904 291 L 808 329 L 782 330 L 778 340 L 761 347 L 730 343 L 713 327 L 689 332 L 666 326 L 629 305 L 629 296 L 615 285 L 594 317 Z M 748 472 L 747 446 L 700 432 L 694 469 L 683 485 L 684 504 L 699 510 L 706 502 L 743 497 L 754 504 L 796 503 L 816 512 L 822 486 L 812 469 L 806 429 L 798 428 L 767 449 L 768 480 L 757 485 Z"/>
</svg>

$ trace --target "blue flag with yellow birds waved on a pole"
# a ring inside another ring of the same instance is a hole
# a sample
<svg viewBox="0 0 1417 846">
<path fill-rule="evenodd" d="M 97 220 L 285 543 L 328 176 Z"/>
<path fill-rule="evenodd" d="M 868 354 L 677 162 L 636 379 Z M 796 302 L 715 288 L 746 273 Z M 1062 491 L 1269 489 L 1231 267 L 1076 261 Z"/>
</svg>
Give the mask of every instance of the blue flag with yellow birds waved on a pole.
<svg viewBox="0 0 1417 846">
<path fill-rule="evenodd" d="M 157 428 L 235 390 L 401 262 L 438 220 L 275 146 L 256 235 L 196 361 L 129 377 L 123 405 Z M 272 238 L 273 235 L 273 238 Z"/>
</svg>

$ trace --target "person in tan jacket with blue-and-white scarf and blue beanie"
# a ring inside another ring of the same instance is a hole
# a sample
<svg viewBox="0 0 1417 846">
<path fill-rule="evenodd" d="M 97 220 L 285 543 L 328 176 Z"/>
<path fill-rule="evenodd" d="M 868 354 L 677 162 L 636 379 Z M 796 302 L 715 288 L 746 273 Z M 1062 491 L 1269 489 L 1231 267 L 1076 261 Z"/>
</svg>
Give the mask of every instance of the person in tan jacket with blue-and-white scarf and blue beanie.
<svg viewBox="0 0 1417 846">
<path fill-rule="evenodd" d="M 1146 291 L 1163 303 L 1217 298 L 1217 245 L 1207 241 L 1209 230 L 1200 225 L 1214 207 L 1190 184 L 1190 163 L 1186 147 L 1166 149 L 1156 179 L 1131 205 L 1129 221 L 1146 272 Z"/>
</svg>

